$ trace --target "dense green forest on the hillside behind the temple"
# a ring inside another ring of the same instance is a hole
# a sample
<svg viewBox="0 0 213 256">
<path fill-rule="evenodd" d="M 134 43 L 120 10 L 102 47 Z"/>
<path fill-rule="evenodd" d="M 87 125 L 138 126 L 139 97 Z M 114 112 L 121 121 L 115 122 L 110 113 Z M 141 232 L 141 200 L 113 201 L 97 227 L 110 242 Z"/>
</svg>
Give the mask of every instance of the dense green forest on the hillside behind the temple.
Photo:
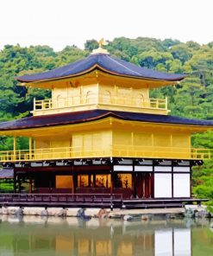
<svg viewBox="0 0 213 256">
<path fill-rule="evenodd" d="M 5 45 L 0 51 L 0 121 L 28 116 L 34 97 L 44 99 L 50 96 L 48 91 L 16 86 L 17 75 L 39 73 L 66 65 L 84 58 L 97 46 L 97 41 L 88 40 L 85 49 L 72 45 L 55 52 L 48 46 L 22 48 L 20 45 Z M 200 45 L 172 39 L 120 37 L 108 42 L 105 48 L 110 54 L 141 67 L 187 74 L 179 85 L 155 89 L 151 96 L 167 96 L 172 115 L 213 119 L 213 42 Z M 213 132 L 195 135 L 192 144 L 213 150 Z M 26 140 L 20 138 L 18 147 L 24 149 L 26 146 Z M 11 147 L 10 138 L 0 138 L 0 150 Z M 197 196 L 213 199 L 213 160 L 194 170 L 193 186 Z"/>
</svg>

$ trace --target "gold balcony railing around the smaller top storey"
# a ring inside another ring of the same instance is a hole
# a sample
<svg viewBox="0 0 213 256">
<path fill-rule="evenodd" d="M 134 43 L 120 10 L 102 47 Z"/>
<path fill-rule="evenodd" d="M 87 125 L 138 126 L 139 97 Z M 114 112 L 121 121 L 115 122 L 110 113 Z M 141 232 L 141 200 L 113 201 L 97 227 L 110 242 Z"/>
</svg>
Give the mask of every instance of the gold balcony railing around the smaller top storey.
<svg viewBox="0 0 213 256">
<path fill-rule="evenodd" d="M 88 106 L 94 104 L 103 104 L 110 106 L 130 106 L 137 108 L 150 108 L 167 110 L 167 99 L 136 99 L 135 96 L 128 97 L 106 97 L 91 95 L 90 97 L 69 97 L 60 99 L 34 99 L 34 111 L 57 109 L 73 106 Z"/>
</svg>

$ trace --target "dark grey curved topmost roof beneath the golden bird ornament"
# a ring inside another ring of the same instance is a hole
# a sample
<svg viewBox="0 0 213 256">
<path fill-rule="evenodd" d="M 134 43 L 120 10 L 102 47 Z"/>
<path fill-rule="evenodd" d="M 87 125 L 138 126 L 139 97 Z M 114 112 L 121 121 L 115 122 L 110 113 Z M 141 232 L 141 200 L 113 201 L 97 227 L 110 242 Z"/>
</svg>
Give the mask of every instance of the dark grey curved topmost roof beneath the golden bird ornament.
<svg viewBox="0 0 213 256">
<path fill-rule="evenodd" d="M 135 64 L 129 63 L 127 61 L 116 59 L 109 54 L 91 54 L 89 57 L 83 60 L 73 62 L 64 67 L 55 68 L 51 71 L 40 74 L 24 75 L 17 77 L 16 79 L 20 82 L 54 80 L 62 77 L 86 74 L 95 68 L 100 68 L 105 72 L 121 76 L 124 75 L 151 80 L 178 81 L 185 78 L 185 75 L 183 74 L 168 74 L 145 67 L 138 67 Z"/>
</svg>

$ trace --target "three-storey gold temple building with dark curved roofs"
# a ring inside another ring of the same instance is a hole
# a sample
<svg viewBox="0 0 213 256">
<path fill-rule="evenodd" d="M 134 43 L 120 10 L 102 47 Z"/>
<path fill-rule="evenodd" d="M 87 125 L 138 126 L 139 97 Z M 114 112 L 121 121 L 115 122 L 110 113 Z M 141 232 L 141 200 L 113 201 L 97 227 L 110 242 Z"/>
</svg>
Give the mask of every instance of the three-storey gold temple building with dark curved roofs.
<svg viewBox="0 0 213 256">
<path fill-rule="evenodd" d="M 185 75 L 138 67 L 102 46 L 84 60 L 17 77 L 20 86 L 51 90 L 34 99 L 32 116 L 0 124 L 14 149 L 0 164 L 14 169 L 15 192 L 119 194 L 129 199 L 191 198 L 191 168 L 210 159 L 191 147 L 191 134 L 213 121 L 169 115 L 167 99 L 149 91 Z M 28 149 L 17 150 L 16 138 Z"/>
</svg>

